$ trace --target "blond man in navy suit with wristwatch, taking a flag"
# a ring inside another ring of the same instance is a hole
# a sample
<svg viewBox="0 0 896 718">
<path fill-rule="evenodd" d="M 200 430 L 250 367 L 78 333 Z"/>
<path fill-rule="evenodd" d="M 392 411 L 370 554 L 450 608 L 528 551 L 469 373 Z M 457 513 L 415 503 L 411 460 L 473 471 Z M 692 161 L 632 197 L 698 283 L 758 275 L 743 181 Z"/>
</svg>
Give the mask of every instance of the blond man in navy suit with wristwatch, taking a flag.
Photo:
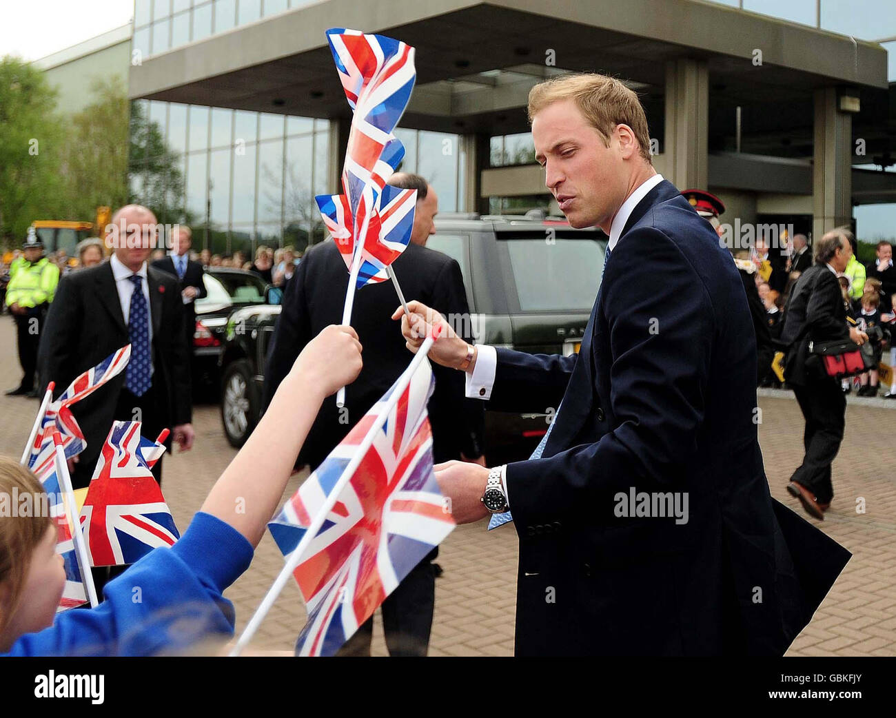
<svg viewBox="0 0 896 718">
<path fill-rule="evenodd" d="M 607 260 L 577 356 L 469 346 L 414 303 L 409 348 L 504 411 L 559 409 L 529 461 L 435 467 L 461 523 L 513 514 L 517 654 L 783 654 L 849 552 L 771 499 L 737 269 L 650 160 L 637 96 L 601 75 L 530 92 L 536 158 Z M 400 312 L 393 318 L 398 319 Z"/>
</svg>

